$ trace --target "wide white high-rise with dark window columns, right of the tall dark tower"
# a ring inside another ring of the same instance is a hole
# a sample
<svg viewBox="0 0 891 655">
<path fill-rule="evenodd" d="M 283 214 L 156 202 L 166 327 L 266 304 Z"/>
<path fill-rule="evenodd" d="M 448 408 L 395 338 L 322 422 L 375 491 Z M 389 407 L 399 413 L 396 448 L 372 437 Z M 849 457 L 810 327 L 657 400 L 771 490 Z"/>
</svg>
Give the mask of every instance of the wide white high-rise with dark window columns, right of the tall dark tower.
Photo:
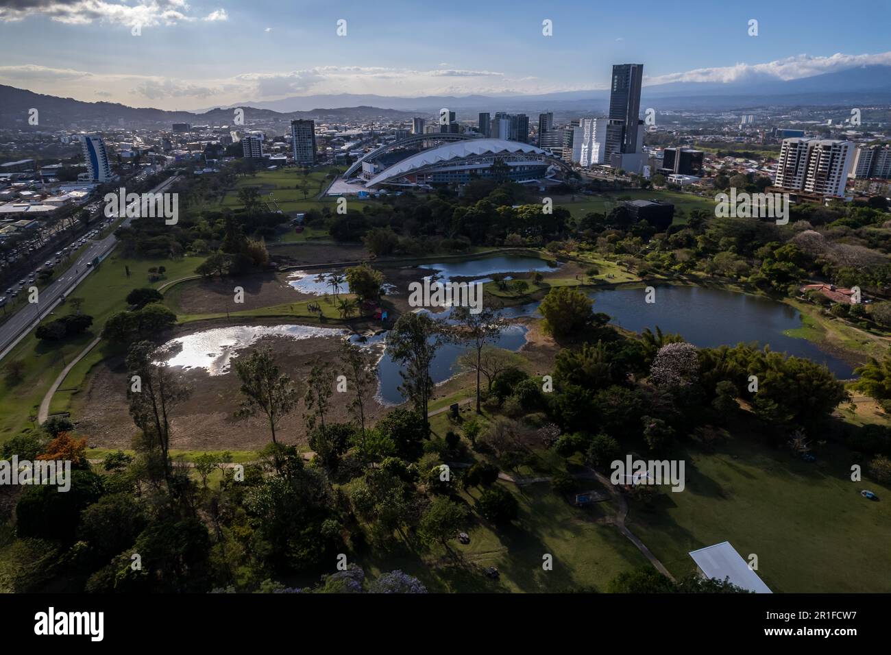
<svg viewBox="0 0 891 655">
<path fill-rule="evenodd" d="M 844 197 L 854 143 L 834 139 L 784 139 L 774 184 L 781 190 Z"/>
</svg>

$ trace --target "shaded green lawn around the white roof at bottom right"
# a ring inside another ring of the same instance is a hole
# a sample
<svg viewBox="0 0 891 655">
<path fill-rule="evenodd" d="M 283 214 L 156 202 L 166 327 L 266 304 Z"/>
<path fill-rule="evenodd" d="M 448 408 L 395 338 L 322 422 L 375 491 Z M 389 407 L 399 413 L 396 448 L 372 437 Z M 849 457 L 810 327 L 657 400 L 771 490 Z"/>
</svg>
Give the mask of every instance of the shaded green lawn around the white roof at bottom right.
<svg viewBox="0 0 891 655">
<path fill-rule="evenodd" d="M 628 527 L 675 576 L 693 569 L 687 553 L 729 541 L 758 556 L 775 593 L 891 592 L 891 488 L 851 481 L 851 463 L 865 461 L 837 446 L 805 463 L 748 438 L 721 450 L 688 451 L 683 492 L 666 489 L 650 509 L 631 504 Z"/>
</svg>

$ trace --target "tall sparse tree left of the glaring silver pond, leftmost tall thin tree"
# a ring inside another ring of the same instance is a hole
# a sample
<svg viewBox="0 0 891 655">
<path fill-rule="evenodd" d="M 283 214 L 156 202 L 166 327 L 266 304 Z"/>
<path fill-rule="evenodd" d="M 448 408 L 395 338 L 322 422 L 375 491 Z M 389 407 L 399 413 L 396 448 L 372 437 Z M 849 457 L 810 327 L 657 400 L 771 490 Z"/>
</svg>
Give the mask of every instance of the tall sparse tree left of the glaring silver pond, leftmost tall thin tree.
<svg viewBox="0 0 891 655">
<path fill-rule="evenodd" d="M 170 484 L 170 413 L 173 408 L 190 395 L 188 389 L 178 381 L 170 367 L 163 363 L 166 353 L 155 347 L 151 341 L 138 341 L 127 351 L 127 397 L 130 401 L 130 416 L 135 426 L 143 431 L 146 444 L 158 451 L 164 477 Z M 132 384 L 137 376 L 139 387 Z"/>
</svg>

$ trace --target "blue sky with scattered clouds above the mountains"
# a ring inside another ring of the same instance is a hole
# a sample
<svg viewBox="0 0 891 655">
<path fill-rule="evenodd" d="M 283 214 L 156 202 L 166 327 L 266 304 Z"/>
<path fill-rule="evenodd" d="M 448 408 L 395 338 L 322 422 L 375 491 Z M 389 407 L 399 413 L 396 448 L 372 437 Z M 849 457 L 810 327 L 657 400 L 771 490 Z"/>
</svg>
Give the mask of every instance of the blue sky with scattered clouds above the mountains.
<svg viewBox="0 0 891 655">
<path fill-rule="evenodd" d="M 194 110 L 606 88 L 624 62 L 644 85 L 790 79 L 891 65 L 889 25 L 891 0 L 0 0 L 0 84 Z"/>
</svg>

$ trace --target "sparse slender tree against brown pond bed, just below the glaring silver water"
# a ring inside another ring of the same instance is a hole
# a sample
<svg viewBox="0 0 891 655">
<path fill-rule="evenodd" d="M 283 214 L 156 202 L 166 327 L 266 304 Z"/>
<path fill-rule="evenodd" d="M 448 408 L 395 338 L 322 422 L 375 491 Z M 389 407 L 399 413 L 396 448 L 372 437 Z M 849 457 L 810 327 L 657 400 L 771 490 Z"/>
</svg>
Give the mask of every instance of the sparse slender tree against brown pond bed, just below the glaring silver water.
<svg viewBox="0 0 891 655">
<path fill-rule="evenodd" d="M 241 380 L 241 401 L 237 415 L 266 415 L 275 441 L 275 427 L 297 405 L 300 393 L 287 373 L 275 364 L 272 348 L 257 348 L 247 357 L 235 359 L 235 373 Z"/>
</svg>

